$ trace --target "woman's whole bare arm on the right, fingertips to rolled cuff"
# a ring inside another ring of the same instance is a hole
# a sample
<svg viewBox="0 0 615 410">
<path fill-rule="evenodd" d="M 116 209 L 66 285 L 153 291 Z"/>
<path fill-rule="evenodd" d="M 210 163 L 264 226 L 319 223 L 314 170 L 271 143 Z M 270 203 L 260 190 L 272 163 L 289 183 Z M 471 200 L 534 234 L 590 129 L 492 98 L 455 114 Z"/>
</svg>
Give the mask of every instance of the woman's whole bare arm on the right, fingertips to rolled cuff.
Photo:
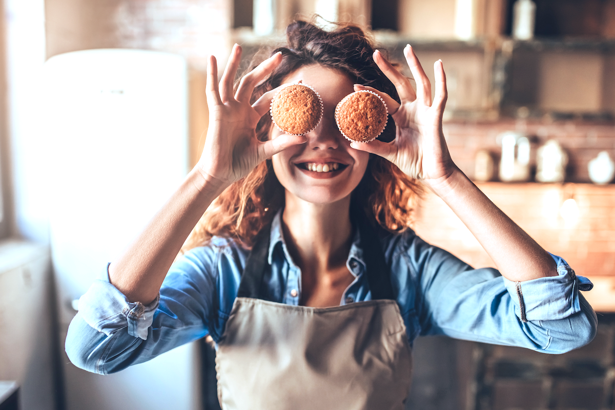
<svg viewBox="0 0 615 410">
<path fill-rule="evenodd" d="M 454 164 L 442 131 L 446 104 L 446 77 L 442 61 L 434 64 L 435 98 L 431 84 L 410 45 L 403 50 L 416 79 L 416 92 L 407 77 L 374 53 L 376 64 L 395 85 L 401 103 L 385 99 L 397 135 L 391 143 L 352 143 L 352 147 L 382 156 L 412 178 L 423 181 L 441 197 L 466 224 L 491 256 L 501 274 L 513 282 L 556 276 L 557 267 L 549 253 L 506 216 Z M 356 90 L 366 89 L 355 85 Z"/>
</svg>

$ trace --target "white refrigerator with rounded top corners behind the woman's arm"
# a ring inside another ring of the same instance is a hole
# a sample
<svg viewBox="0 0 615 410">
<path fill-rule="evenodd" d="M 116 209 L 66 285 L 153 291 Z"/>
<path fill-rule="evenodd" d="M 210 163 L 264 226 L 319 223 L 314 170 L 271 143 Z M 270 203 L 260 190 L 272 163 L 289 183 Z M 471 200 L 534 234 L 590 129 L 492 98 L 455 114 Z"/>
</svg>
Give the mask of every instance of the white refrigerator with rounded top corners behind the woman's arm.
<svg viewBox="0 0 615 410">
<path fill-rule="evenodd" d="M 74 301 L 188 172 L 188 75 L 177 55 L 100 49 L 52 57 L 44 76 L 42 177 L 63 347 Z M 200 408 L 196 343 L 109 376 L 62 355 L 66 410 Z"/>
</svg>

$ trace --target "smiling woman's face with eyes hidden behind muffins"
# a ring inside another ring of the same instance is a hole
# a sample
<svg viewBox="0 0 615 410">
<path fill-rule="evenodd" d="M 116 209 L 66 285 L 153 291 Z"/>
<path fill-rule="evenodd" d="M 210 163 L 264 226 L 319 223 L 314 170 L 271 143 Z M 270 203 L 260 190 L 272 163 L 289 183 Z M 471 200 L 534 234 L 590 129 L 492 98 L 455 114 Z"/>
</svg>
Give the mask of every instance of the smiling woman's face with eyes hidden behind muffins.
<svg viewBox="0 0 615 410">
<path fill-rule="evenodd" d="M 287 199 L 292 195 L 311 203 L 337 202 L 357 187 L 370 155 L 352 149 L 335 122 L 335 107 L 354 92 L 353 82 L 341 71 L 321 65 L 303 66 L 288 75 L 284 83 L 299 80 L 313 87 L 322 98 L 322 120 L 306 135 L 306 143 L 274 155 L 273 169 L 286 189 Z M 271 138 L 281 133 L 272 126 Z"/>
</svg>

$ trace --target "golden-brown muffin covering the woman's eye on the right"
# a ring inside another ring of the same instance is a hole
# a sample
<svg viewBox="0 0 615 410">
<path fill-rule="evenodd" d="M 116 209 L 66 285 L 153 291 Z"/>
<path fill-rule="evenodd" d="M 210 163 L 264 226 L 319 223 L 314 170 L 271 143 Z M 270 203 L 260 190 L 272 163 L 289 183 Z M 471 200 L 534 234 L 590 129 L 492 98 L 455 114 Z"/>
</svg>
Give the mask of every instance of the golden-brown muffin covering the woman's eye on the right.
<svg viewBox="0 0 615 410">
<path fill-rule="evenodd" d="M 386 127 L 389 111 L 375 92 L 360 90 L 344 97 L 335 108 L 339 132 L 350 141 L 368 143 Z"/>
</svg>

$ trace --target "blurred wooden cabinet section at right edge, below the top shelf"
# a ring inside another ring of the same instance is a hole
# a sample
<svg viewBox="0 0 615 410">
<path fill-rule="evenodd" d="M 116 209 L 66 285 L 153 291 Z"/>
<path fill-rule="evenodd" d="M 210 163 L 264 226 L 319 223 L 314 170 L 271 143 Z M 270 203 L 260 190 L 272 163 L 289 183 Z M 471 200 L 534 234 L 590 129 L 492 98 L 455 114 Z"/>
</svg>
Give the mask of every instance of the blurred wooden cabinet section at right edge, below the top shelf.
<svg viewBox="0 0 615 410">
<path fill-rule="evenodd" d="M 612 120 L 615 113 L 615 41 L 508 40 L 495 69 L 502 114 L 554 119 Z"/>
</svg>

